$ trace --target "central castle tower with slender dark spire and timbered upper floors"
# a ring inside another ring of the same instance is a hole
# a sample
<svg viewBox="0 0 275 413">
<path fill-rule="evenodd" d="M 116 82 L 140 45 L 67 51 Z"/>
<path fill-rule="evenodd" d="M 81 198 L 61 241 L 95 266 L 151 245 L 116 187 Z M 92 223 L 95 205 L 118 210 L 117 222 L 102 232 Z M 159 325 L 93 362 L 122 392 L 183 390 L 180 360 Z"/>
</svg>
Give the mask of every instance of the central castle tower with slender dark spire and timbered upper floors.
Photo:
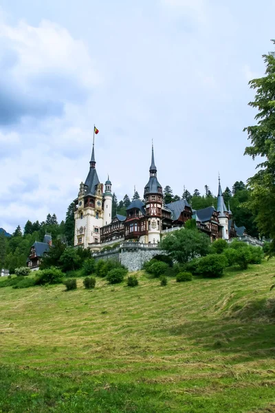
<svg viewBox="0 0 275 413">
<path fill-rule="evenodd" d="M 157 167 L 155 166 L 154 147 L 152 143 L 152 160 L 149 169 L 150 178 L 144 188 L 144 200 L 147 217 L 148 244 L 157 244 L 162 231 L 162 185 L 157 180 Z"/>
</svg>

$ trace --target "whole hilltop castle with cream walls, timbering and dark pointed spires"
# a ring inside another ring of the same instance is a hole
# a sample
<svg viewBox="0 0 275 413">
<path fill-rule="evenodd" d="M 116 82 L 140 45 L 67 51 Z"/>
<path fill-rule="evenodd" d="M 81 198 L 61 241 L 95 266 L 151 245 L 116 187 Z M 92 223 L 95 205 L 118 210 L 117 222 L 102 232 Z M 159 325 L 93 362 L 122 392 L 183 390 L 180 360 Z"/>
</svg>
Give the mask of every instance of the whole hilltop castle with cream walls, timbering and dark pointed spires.
<svg viewBox="0 0 275 413">
<path fill-rule="evenodd" d="M 126 209 L 126 216 L 115 215 L 112 218 L 111 181 L 108 176 L 103 185 L 98 179 L 94 143 L 89 164 L 85 183 L 81 182 L 78 198 L 74 200 L 75 246 L 90 248 L 91 251 L 100 251 L 103 246 L 120 241 L 157 246 L 166 233 L 181 228 L 191 218 L 212 241 L 218 238 L 231 240 L 245 233 L 245 227 L 238 228 L 234 224 L 230 207 L 225 206 L 220 180 L 217 209 L 208 207 L 195 211 L 186 200 L 164 204 L 162 185 L 157 180 L 153 145 L 144 201 L 133 200 Z"/>
</svg>

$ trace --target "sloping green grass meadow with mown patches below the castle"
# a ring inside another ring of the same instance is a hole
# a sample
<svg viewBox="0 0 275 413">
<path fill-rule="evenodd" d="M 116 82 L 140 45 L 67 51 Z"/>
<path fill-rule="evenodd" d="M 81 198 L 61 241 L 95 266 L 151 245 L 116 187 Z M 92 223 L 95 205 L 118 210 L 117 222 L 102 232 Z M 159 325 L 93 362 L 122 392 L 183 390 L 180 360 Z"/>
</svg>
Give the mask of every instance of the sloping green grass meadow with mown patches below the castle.
<svg viewBox="0 0 275 413">
<path fill-rule="evenodd" d="M 0 288 L 0 412 L 275 412 L 275 262 Z M 0 280 L 1 282 L 1 280 Z"/>
</svg>

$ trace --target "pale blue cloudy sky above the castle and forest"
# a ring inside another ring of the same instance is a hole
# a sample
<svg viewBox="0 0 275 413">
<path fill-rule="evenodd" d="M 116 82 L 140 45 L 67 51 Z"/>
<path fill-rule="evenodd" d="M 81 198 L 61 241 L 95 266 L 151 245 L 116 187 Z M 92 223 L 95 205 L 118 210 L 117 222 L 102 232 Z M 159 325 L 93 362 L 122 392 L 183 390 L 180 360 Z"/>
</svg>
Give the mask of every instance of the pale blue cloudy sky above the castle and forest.
<svg viewBox="0 0 275 413">
<path fill-rule="evenodd" d="M 274 0 L 0 0 L 0 227 L 65 219 L 94 124 L 118 200 L 143 194 L 152 139 L 174 195 L 254 175 L 248 81 L 265 72 L 274 13 Z"/>
</svg>

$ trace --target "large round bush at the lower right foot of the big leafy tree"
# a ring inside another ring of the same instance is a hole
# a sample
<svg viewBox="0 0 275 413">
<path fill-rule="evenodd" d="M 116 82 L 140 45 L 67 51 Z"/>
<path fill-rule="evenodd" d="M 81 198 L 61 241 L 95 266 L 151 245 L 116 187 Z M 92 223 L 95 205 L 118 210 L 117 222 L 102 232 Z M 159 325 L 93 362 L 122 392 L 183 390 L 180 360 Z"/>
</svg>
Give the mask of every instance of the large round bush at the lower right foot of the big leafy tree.
<svg viewBox="0 0 275 413">
<path fill-rule="evenodd" d="M 228 265 L 225 255 L 210 254 L 199 258 L 198 270 L 203 277 L 222 277 L 225 266 Z"/>
</svg>

